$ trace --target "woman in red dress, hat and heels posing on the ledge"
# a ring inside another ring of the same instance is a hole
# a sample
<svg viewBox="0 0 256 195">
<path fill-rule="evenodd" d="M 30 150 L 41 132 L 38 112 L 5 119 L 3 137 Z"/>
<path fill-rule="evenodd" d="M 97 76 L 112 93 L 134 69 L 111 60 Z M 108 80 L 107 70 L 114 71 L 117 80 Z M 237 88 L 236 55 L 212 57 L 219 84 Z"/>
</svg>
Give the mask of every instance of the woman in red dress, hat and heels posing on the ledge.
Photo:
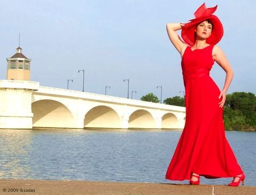
<svg viewBox="0 0 256 195">
<path fill-rule="evenodd" d="M 189 180 L 189 184 L 199 185 L 200 176 L 234 177 L 229 185 L 238 186 L 240 181 L 243 184 L 245 174 L 226 140 L 222 120 L 233 70 L 216 45 L 223 36 L 220 20 L 212 15 L 216 9 L 217 6 L 206 8 L 204 3 L 189 23 L 167 24 L 168 36 L 182 59 L 186 121 L 166 179 Z M 184 42 L 176 32 L 180 29 Z M 209 77 L 214 61 L 226 72 L 222 91 Z"/>
</svg>

